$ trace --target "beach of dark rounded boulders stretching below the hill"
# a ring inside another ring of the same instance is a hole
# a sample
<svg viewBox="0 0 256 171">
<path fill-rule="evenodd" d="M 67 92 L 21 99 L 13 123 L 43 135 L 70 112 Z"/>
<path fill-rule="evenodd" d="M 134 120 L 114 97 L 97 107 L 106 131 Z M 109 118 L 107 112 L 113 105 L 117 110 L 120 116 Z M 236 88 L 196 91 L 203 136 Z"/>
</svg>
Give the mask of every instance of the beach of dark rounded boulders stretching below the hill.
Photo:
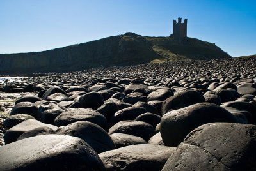
<svg viewBox="0 0 256 171">
<path fill-rule="evenodd" d="M 0 170 L 256 170 L 256 57 L 9 78 L 0 105 Z"/>
</svg>

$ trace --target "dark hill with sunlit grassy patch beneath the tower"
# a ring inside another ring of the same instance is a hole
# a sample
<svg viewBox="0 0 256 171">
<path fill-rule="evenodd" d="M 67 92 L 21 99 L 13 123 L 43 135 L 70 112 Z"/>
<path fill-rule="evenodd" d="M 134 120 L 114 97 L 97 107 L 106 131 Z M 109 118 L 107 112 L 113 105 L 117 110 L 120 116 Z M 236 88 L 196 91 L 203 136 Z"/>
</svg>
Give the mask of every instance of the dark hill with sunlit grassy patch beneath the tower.
<svg viewBox="0 0 256 171">
<path fill-rule="evenodd" d="M 186 38 L 149 37 L 134 33 L 42 52 L 0 54 L 0 74 L 79 71 L 106 66 L 230 56 L 213 43 Z"/>
</svg>

